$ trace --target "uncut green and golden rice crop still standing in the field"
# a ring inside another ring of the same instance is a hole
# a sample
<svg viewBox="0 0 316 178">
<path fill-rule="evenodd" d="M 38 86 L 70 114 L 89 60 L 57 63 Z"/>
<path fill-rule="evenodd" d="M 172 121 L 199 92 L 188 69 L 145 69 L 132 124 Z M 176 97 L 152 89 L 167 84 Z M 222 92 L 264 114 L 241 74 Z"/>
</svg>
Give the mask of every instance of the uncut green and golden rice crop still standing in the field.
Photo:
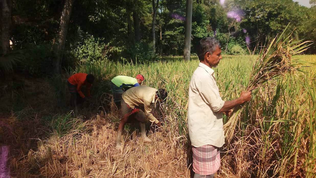
<svg viewBox="0 0 316 178">
<path fill-rule="evenodd" d="M 242 171 L 250 172 L 255 177 L 315 176 L 316 65 L 311 63 L 316 62 L 316 56 L 295 57 L 309 67 L 301 67 L 304 73 L 278 77 L 253 91 L 251 102 L 241 111 L 233 141 L 225 145 L 230 151 L 222 158 L 223 168 L 232 169 L 236 175 Z M 249 55 L 223 57 L 214 68 L 222 99 L 236 99 L 245 90 L 256 58 Z M 107 82 L 117 75 L 134 77 L 143 74 L 143 85 L 168 91 L 164 106 L 166 126 L 170 131 L 186 136 L 188 87 L 198 65 L 197 56 L 191 59 L 184 61 L 182 56 L 168 56 L 145 64 L 100 62 L 79 65 L 73 72 L 95 74 L 92 92 L 98 96 L 108 92 Z M 248 167 L 239 168 L 240 162 L 232 159 L 240 157 L 234 151 L 238 149 L 244 150 L 242 163 L 249 163 Z"/>
</svg>

